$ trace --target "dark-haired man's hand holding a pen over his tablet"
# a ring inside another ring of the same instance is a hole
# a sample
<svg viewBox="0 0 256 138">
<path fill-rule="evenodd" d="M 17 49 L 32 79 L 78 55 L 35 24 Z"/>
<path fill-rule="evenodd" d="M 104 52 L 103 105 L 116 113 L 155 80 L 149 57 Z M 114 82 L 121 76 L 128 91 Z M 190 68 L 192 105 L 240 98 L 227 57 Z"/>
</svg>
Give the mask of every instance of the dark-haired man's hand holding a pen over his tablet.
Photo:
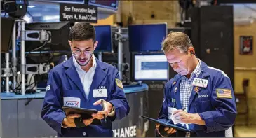
<svg viewBox="0 0 256 138">
<path fill-rule="evenodd" d="M 93 118 L 97 118 L 97 119 L 103 119 L 105 115 L 106 117 L 109 115 L 109 113 L 112 111 L 112 104 L 110 102 L 105 101 L 104 99 L 100 99 L 98 101 L 96 101 L 95 103 L 93 103 L 93 105 L 99 105 L 101 104 L 101 100 L 103 100 L 103 106 L 104 106 L 104 110 L 103 111 L 98 111 L 97 113 L 93 113 L 92 116 Z"/>
</svg>

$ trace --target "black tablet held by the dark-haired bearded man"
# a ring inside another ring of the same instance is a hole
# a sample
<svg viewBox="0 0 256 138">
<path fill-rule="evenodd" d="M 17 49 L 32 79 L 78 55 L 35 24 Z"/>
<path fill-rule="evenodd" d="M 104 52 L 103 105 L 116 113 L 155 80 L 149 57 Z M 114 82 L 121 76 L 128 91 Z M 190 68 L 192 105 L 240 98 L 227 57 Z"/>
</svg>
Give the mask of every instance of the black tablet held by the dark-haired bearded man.
<svg viewBox="0 0 256 138">
<path fill-rule="evenodd" d="M 81 118 L 83 119 L 89 119 L 92 118 L 93 113 L 97 113 L 96 109 L 83 109 L 83 108 L 77 108 L 77 107 L 69 107 L 69 106 L 62 106 L 63 111 L 66 113 L 66 116 L 69 114 L 80 114 Z M 93 125 L 101 125 L 100 120 L 93 119 Z"/>
</svg>

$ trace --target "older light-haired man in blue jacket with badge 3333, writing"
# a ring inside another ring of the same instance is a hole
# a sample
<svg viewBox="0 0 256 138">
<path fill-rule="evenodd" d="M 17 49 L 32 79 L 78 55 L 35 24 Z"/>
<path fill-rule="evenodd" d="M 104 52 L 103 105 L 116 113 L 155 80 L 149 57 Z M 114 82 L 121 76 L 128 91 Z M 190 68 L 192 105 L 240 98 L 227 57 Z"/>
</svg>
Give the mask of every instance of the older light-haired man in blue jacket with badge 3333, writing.
<svg viewBox="0 0 256 138">
<path fill-rule="evenodd" d="M 189 36 L 182 32 L 168 34 L 162 50 L 177 75 L 166 83 L 159 120 L 193 132 L 156 124 L 156 136 L 227 137 L 236 118 L 229 77 L 196 58 Z"/>
</svg>

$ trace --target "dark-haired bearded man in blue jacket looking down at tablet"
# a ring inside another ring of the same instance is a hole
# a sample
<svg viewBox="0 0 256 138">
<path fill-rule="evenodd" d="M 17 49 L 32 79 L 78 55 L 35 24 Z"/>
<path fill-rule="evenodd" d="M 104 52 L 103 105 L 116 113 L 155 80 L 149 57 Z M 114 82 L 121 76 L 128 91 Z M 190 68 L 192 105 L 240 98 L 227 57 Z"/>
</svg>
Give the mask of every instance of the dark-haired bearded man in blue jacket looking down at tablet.
<svg viewBox="0 0 256 138">
<path fill-rule="evenodd" d="M 130 110 L 119 73 L 93 55 L 97 46 L 93 25 L 77 23 L 69 35 L 73 56 L 50 70 L 41 117 L 58 137 L 112 137 L 112 121 L 124 118 Z M 97 109 L 98 113 L 81 119 L 80 114 L 66 116 L 62 106 Z"/>
</svg>

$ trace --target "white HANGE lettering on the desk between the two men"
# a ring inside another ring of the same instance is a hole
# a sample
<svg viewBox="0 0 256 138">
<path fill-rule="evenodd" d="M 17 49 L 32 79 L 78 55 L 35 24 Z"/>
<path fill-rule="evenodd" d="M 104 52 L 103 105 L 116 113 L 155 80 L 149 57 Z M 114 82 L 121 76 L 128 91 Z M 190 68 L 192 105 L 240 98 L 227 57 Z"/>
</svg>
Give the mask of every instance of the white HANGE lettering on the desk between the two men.
<svg viewBox="0 0 256 138">
<path fill-rule="evenodd" d="M 113 130 L 114 137 L 136 137 L 136 125 Z"/>
</svg>

